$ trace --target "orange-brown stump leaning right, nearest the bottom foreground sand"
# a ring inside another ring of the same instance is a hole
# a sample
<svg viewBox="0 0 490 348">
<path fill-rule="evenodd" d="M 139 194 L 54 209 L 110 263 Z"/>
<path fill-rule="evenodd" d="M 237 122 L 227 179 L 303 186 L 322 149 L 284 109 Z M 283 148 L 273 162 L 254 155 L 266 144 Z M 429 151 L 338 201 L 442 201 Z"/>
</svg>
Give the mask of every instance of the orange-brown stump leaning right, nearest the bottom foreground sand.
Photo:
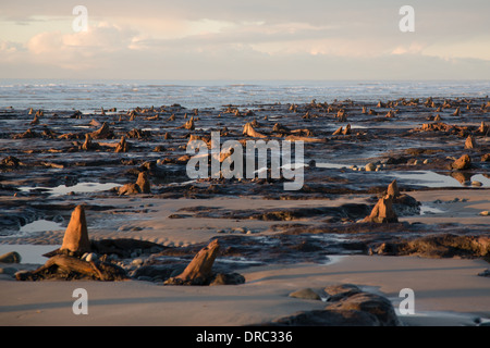
<svg viewBox="0 0 490 348">
<path fill-rule="evenodd" d="M 218 239 L 212 240 L 207 247 L 194 257 L 184 272 L 164 282 L 169 285 L 206 285 L 212 277 L 212 264 L 219 251 Z"/>
</svg>

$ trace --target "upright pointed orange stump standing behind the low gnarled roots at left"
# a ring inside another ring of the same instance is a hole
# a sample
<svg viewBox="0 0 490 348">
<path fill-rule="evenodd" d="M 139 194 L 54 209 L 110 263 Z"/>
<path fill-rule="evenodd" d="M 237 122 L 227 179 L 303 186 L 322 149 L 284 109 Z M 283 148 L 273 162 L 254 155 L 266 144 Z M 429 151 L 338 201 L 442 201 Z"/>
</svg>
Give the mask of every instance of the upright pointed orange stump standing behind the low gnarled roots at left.
<svg viewBox="0 0 490 348">
<path fill-rule="evenodd" d="M 60 251 L 69 251 L 79 256 L 90 252 L 90 241 L 88 239 L 87 222 L 83 206 L 77 206 L 73 210 L 70 223 L 64 232 Z"/>
</svg>

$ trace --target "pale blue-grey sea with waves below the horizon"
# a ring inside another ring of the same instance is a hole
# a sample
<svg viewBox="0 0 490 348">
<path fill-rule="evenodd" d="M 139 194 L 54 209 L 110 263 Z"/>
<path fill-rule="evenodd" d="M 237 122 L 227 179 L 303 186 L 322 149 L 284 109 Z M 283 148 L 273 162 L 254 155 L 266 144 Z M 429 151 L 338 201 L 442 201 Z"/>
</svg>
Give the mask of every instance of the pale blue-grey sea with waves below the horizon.
<svg viewBox="0 0 490 348">
<path fill-rule="evenodd" d="M 186 108 L 226 104 L 303 103 L 352 99 L 477 98 L 490 80 L 76 80 L 1 79 L 0 109 L 130 110 L 179 103 Z"/>
</svg>

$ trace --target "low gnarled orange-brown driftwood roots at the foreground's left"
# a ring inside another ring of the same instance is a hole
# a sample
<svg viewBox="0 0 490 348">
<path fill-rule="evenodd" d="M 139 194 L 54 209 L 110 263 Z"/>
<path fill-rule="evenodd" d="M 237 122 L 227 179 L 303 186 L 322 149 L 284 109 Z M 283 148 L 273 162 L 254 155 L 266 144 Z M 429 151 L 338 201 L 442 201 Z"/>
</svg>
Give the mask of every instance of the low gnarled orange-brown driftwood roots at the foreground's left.
<svg viewBox="0 0 490 348">
<path fill-rule="evenodd" d="M 123 269 L 112 263 L 84 261 L 66 254 L 57 254 L 33 272 L 16 273 L 15 278 L 17 281 L 49 278 L 123 281 L 127 278 L 127 275 Z"/>
</svg>

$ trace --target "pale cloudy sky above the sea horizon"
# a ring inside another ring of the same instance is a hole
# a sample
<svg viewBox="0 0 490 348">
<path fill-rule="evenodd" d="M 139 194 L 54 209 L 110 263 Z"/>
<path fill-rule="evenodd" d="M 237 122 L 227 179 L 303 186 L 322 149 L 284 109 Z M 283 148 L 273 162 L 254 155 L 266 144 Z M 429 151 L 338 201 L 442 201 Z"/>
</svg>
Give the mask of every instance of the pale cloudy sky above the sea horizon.
<svg viewBox="0 0 490 348">
<path fill-rule="evenodd" d="M 490 79 L 489 13 L 489 0 L 0 0 L 0 78 Z"/>
</svg>

